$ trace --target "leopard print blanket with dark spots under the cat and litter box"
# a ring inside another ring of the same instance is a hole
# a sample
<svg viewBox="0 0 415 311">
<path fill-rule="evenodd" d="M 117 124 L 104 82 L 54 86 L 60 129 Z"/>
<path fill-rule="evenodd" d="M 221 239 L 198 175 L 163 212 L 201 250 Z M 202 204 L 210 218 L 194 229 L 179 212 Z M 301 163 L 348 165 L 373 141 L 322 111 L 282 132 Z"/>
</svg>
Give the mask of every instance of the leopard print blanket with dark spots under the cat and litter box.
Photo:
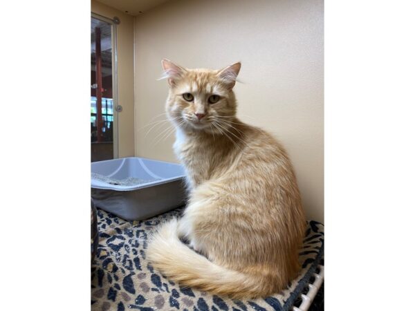
<svg viewBox="0 0 415 311">
<path fill-rule="evenodd" d="M 323 255 L 324 227 L 309 221 L 299 253 L 302 271 L 282 292 L 241 301 L 181 288 L 154 270 L 146 259 L 149 234 L 160 222 L 180 216 L 181 211 L 132 222 L 98 209 L 99 244 L 91 265 L 91 310 L 291 310 Z"/>
</svg>

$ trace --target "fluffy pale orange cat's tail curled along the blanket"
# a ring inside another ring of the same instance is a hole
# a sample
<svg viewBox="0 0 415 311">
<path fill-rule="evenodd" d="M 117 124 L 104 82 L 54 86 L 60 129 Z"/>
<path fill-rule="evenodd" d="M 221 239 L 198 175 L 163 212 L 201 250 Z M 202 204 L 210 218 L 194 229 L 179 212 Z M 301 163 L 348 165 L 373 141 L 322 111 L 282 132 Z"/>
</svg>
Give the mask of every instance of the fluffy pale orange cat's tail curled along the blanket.
<svg viewBox="0 0 415 311">
<path fill-rule="evenodd" d="M 272 294 L 270 284 L 261 276 L 216 265 L 183 244 L 178 238 L 177 219 L 162 225 L 151 237 L 147 258 L 156 269 L 182 286 L 236 299 Z"/>
</svg>

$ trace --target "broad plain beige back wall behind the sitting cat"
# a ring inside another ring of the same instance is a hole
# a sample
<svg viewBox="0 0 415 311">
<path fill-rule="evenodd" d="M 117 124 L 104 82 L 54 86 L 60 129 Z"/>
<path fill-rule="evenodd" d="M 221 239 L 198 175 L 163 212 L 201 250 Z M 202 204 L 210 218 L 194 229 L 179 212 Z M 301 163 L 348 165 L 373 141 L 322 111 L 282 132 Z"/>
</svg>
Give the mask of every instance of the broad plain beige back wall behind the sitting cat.
<svg viewBox="0 0 415 311">
<path fill-rule="evenodd" d="M 240 60 L 241 120 L 283 142 L 308 218 L 323 221 L 323 1 L 169 1 L 136 17 L 135 30 L 136 156 L 176 161 L 174 134 L 155 144 L 157 126 L 147 138 L 140 129 L 164 112 L 160 59 L 189 68 Z"/>
</svg>

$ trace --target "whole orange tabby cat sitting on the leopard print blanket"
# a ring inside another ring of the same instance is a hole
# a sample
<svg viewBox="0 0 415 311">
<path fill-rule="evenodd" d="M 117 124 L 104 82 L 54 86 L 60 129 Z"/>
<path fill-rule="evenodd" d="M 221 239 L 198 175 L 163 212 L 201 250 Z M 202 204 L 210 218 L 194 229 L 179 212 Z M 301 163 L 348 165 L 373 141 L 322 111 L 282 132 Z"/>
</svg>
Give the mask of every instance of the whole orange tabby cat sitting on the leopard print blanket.
<svg viewBox="0 0 415 311">
<path fill-rule="evenodd" d="M 183 217 L 151 236 L 147 258 L 170 280 L 212 294 L 279 292 L 299 273 L 306 220 L 284 148 L 236 117 L 241 63 L 188 69 L 163 59 L 162 66 L 190 194 Z"/>
</svg>

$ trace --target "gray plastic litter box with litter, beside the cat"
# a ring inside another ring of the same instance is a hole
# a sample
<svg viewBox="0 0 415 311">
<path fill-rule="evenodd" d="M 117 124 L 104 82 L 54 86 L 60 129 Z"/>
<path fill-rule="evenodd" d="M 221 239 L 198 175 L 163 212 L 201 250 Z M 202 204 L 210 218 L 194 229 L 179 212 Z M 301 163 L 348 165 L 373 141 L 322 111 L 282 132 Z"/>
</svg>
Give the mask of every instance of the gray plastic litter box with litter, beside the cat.
<svg viewBox="0 0 415 311">
<path fill-rule="evenodd" d="M 184 204 L 180 164 L 145 158 L 91 163 L 91 196 L 97 207 L 126 220 L 142 220 Z"/>
</svg>

